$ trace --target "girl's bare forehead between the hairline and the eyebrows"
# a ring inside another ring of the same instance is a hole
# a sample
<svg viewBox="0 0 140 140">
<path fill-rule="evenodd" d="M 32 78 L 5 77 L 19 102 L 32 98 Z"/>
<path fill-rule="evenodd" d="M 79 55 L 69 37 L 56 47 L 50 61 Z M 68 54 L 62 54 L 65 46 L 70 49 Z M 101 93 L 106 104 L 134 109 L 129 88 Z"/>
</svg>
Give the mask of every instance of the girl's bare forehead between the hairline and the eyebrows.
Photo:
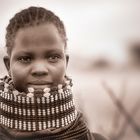
<svg viewBox="0 0 140 140">
<path fill-rule="evenodd" d="M 41 24 L 20 29 L 14 41 L 13 50 L 30 50 L 45 46 L 47 49 L 65 49 L 65 43 L 53 24 Z M 12 51 L 13 51 L 12 50 Z"/>
</svg>

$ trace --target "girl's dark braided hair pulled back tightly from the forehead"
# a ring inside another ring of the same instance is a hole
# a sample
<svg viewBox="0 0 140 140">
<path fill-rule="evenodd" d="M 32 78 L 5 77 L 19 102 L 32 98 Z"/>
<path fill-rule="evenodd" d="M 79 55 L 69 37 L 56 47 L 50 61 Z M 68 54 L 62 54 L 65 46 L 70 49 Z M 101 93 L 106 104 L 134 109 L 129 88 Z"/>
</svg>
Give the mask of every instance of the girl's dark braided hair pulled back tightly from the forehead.
<svg viewBox="0 0 140 140">
<path fill-rule="evenodd" d="M 7 53 L 10 55 L 12 47 L 14 46 L 14 40 L 16 33 L 19 29 L 30 27 L 34 25 L 40 25 L 43 23 L 52 23 L 56 26 L 59 34 L 64 40 L 66 46 L 66 31 L 63 22 L 52 11 L 49 11 L 42 7 L 29 7 L 16 13 L 15 16 L 9 21 L 6 28 L 6 47 Z"/>
</svg>

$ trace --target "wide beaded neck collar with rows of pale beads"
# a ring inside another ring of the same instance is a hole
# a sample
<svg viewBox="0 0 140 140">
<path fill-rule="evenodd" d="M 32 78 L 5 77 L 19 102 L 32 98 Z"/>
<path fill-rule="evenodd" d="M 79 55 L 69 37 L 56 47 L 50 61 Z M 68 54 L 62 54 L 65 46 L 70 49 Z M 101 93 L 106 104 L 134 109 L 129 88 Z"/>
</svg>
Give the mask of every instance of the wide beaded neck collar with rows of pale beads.
<svg viewBox="0 0 140 140">
<path fill-rule="evenodd" d="M 64 85 L 28 93 L 17 91 L 10 77 L 0 80 L 0 124 L 19 131 L 57 129 L 77 117 L 72 96 L 72 81 Z"/>
</svg>

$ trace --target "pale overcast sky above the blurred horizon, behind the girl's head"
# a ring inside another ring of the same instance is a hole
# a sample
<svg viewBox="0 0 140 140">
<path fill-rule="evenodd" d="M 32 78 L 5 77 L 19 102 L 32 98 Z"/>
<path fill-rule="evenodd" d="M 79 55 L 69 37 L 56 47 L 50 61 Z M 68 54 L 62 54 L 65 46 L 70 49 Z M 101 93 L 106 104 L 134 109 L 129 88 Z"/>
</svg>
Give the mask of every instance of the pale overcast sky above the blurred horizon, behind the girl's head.
<svg viewBox="0 0 140 140">
<path fill-rule="evenodd" d="M 14 14 L 29 6 L 43 6 L 64 22 L 69 52 L 123 60 L 125 47 L 140 38 L 139 0 L 0 0 L 0 46 Z"/>
</svg>

